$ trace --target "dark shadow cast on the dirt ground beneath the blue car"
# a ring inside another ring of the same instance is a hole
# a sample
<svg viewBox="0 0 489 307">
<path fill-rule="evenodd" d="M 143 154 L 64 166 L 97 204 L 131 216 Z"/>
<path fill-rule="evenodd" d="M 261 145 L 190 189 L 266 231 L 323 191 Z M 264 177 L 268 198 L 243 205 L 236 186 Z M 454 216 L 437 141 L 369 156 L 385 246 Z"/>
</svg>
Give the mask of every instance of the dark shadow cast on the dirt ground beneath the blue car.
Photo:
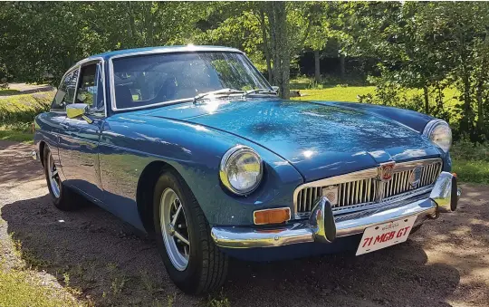
<svg viewBox="0 0 489 307">
<path fill-rule="evenodd" d="M 24 260 L 79 289 L 98 304 L 205 304 L 168 280 L 154 243 L 94 205 L 75 212 L 53 208 L 48 195 L 7 204 L 2 218 L 22 243 Z M 298 246 L 299 247 L 299 246 Z M 68 277 L 67 277 L 68 276 Z M 223 295 L 233 306 L 447 305 L 460 280 L 446 264 L 408 241 L 379 253 L 326 255 L 277 263 L 233 261 Z M 434 286 L 436 285 L 436 286 Z M 250 295 L 253 293 L 253 295 Z"/>
</svg>

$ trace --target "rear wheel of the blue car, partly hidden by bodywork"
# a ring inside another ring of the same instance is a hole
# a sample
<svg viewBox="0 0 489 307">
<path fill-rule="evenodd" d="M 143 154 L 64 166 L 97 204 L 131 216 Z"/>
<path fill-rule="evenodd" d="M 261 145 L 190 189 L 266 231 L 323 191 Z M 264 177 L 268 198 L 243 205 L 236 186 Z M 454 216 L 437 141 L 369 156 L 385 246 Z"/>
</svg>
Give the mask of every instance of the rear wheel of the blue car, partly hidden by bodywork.
<svg viewBox="0 0 489 307">
<path fill-rule="evenodd" d="M 78 203 L 73 192 L 63 185 L 56 162 L 47 146 L 44 147 L 44 174 L 46 176 L 49 194 L 53 199 L 53 204 L 60 210 L 73 210 L 78 208 Z"/>
</svg>

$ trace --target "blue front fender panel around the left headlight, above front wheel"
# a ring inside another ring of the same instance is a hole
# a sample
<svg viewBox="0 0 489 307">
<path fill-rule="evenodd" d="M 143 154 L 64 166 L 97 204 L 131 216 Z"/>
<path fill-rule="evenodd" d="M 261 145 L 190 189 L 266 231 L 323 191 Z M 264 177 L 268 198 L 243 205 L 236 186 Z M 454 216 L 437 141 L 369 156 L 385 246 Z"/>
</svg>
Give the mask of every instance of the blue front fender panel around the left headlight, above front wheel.
<svg viewBox="0 0 489 307">
<path fill-rule="evenodd" d="M 253 148 L 264 160 L 262 184 L 247 197 L 228 192 L 219 179 L 221 158 L 236 144 Z M 104 190 L 134 206 L 143 169 L 154 161 L 168 163 L 185 179 L 211 225 L 253 225 L 253 211 L 265 207 L 292 210 L 293 190 L 302 183 L 289 162 L 245 139 L 185 121 L 128 113 L 106 121 L 100 160 Z"/>
</svg>

